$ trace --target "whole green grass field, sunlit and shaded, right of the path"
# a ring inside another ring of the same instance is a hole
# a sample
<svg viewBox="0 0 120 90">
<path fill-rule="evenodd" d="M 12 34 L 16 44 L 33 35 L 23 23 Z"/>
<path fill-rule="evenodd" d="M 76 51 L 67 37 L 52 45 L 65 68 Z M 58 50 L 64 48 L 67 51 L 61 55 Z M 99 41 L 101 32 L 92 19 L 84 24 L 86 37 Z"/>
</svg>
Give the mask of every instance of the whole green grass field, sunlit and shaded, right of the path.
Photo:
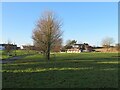
<svg viewBox="0 0 120 90">
<path fill-rule="evenodd" d="M 2 65 L 3 88 L 118 88 L 117 53 L 31 55 Z"/>
</svg>

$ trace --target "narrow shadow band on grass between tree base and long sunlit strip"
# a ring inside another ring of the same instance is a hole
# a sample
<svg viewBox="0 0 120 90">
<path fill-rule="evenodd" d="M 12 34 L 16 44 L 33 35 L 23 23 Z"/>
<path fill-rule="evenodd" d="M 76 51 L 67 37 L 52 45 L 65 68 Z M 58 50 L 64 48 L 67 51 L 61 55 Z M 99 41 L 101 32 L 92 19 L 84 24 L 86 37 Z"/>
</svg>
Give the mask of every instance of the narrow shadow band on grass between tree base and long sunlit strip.
<svg viewBox="0 0 120 90">
<path fill-rule="evenodd" d="M 3 64 L 3 70 L 36 70 L 46 68 L 84 68 L 84 67 L 118 67 L 117 60 L 61 60 L 61 61 L 33 61 L 33 62 L 16 62 Z M 52 70 L 52 69 L 51 69 Z M 76 69 L 77 70 L 77 69 Z M 39 71 L 39 70 L 38 70 Z"/>
</svg>

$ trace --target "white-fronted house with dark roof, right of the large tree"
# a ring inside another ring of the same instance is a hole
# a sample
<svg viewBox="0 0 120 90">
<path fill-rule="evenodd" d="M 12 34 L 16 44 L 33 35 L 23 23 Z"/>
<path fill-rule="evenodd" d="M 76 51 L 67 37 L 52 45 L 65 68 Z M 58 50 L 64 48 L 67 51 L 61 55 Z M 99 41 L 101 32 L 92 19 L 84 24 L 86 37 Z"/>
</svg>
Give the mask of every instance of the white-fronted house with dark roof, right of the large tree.
<svg viewBox="0 0 120 90">
<path fill-rule="evenodd" d="M 70 49 L 67 49 L 67 53 L 80 53 L 80 52 L 91 52 L 92 46 L 89 44 L 74 44 Z"/>
</svg>

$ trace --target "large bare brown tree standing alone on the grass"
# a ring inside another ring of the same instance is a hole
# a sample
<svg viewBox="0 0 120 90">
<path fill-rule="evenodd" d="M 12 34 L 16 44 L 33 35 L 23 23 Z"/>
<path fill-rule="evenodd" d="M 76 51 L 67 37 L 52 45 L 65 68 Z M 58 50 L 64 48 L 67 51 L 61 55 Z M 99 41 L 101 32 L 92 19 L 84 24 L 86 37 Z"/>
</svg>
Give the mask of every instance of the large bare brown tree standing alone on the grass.
<svg viewBox="0 0 120 90">
<path fill-rule="evenodd" d="M 61 21 L 55 17 L 55 14 L 47 11 L 38 20 L 33 31 L 34 44 L 43 51 L 47 60 L 50 60 L 50 51 L 62 36 L 61 25 Z"/>
</svg>

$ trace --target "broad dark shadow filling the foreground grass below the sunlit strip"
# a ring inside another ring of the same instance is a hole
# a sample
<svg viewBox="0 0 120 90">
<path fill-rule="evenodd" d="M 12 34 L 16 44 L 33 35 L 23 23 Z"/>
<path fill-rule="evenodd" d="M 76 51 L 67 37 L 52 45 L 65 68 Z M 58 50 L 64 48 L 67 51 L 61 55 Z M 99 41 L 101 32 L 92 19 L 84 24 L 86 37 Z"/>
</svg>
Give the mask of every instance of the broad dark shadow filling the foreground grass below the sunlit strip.
<svg viewBox="0 0 120 90">
<path fill-rule="evenodd" d="M 117 88 L 117 73 L 91 70 L 3 72 L 3 88 Z"/>
</svg>

